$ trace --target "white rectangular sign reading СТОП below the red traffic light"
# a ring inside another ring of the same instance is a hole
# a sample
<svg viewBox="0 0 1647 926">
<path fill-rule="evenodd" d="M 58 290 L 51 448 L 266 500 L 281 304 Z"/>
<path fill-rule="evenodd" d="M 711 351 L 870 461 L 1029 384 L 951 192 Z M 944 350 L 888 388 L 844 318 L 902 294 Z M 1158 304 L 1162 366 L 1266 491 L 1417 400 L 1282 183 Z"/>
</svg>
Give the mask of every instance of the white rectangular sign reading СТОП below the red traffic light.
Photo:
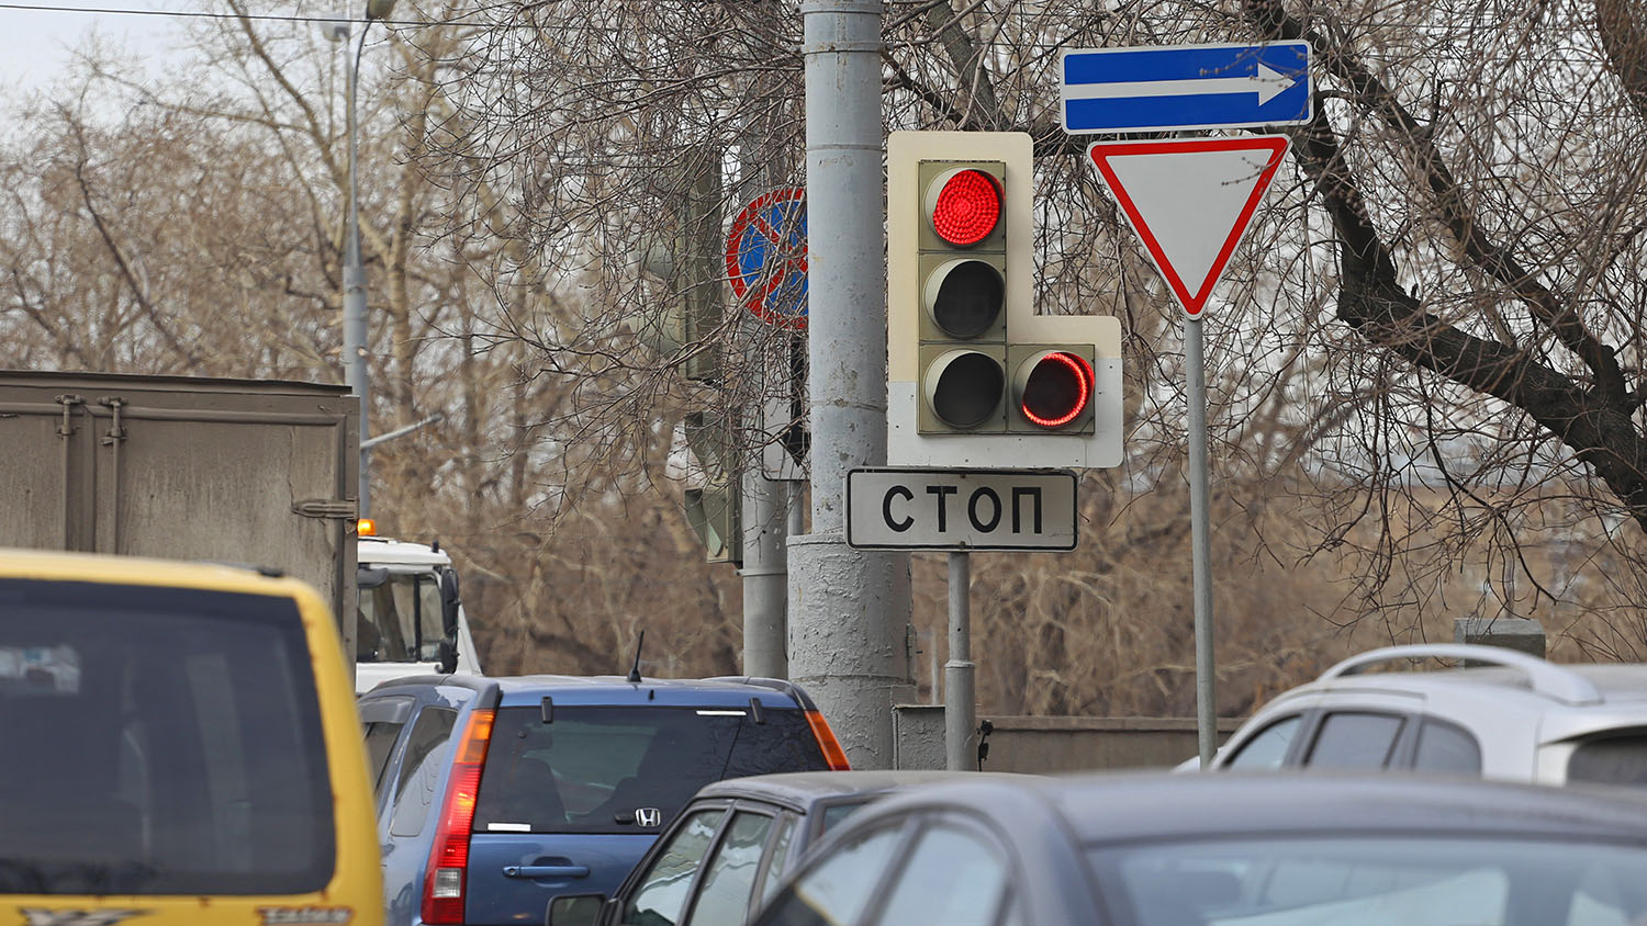
<svg viewBox="0 0 1647 926">
<path fill-rule="evenodd" d="M 1062 469 L 855 469 L 853 549 L 1075 549 L 1075 474 Z"/>
</svg>

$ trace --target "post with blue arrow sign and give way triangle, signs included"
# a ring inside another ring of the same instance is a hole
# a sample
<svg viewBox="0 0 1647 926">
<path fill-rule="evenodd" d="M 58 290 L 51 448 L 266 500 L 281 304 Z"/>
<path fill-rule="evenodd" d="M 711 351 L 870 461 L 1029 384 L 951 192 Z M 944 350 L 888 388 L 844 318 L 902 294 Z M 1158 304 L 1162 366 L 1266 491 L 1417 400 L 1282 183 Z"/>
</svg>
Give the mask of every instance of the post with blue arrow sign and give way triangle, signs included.
<svg viewBox="0 0 1647 926">
<path fill-rule="evenodd" d="M 1309 122 L 1309 43 L 1071 49 L 1064 130 L 1159 132 Z M 1201 311 L 1286 156 L 1285 135 L 1094 143 L 1087 156 L 1184 308 L 1189 525 L 1201 766 L 1217 748 Z"/>
</svg>

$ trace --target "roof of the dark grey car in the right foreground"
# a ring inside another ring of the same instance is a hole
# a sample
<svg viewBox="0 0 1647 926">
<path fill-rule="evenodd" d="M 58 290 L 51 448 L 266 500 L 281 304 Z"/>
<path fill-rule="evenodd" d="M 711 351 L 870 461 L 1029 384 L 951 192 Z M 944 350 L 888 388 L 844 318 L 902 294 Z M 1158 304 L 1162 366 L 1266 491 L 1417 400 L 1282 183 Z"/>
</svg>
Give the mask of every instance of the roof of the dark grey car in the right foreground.
<svg viewBox="0 0 1647 926">
<path fill-rule="evenodd" d="M 1410 832 L 1588 837 L 1647 847 L 1647 799 L 1634 791 L 1418 775 L 1232 771 L 980 780 L 888 798 L 875 816 L 922 804 L 982 811 L 1006 829 L 1051 813 L 1082 844 Z"/>
</svg>

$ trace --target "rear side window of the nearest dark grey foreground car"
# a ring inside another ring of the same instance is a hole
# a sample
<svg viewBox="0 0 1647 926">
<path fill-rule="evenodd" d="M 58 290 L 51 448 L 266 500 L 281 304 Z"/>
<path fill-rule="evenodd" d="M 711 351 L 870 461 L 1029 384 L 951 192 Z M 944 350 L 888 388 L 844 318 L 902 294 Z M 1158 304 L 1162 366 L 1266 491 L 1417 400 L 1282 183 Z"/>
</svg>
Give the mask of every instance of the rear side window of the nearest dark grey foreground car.
<svg viewBox="0 0 1647 926">
<path fill-rule="evenodd" d="M 916 840 L 876 923 L 991 926 L 1006 895 L 1006 862 L 982 836 L 934 826 Z"/>
</svg>

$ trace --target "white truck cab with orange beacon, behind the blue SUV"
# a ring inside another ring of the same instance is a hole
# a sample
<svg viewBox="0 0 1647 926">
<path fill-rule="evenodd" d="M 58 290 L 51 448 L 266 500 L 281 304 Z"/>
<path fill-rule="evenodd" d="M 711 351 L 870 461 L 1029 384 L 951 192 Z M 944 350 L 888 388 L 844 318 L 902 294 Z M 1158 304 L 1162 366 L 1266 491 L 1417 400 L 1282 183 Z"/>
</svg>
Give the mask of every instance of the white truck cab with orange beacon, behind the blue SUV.
<svg viewBox="0 0 1647 926">
<path fill-rule="evenodd" d="M 361 525 L 354 691 L 427 673 L 481 674 L 458 571 L 438 543 L 376 536 Z"/>
</svg>

